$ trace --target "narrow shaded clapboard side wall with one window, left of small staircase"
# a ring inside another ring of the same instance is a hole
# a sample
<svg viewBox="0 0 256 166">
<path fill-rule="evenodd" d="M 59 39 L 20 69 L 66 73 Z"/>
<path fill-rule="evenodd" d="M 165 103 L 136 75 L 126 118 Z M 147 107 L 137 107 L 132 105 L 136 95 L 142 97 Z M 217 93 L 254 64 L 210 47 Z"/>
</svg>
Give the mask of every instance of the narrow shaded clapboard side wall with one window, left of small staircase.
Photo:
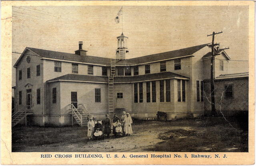
<svg viewBox="0 0 256 166">
<path fill-rule="evenodd" d="M 52 103 L 52 88 L 56 88 L 56 103 Z M 63 100 L 60 96 L 60 82 L 51 82 L 46 84 L 46 114 L 60 115 L 60 102 Z"/>
</svg>

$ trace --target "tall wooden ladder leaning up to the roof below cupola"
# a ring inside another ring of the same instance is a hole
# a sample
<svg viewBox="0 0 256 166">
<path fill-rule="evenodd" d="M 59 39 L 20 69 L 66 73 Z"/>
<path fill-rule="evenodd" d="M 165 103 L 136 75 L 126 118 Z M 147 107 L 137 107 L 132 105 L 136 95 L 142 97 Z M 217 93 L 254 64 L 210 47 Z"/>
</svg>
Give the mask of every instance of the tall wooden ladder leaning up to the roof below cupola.
<svg viewBox="0 0 256 166">
<path fill-rule="evenodd" d="M 116 76 L 116 60 L 111 59 L 108 76 L 108 114 L 114 113 L 114 77 Z"/>
</svg>

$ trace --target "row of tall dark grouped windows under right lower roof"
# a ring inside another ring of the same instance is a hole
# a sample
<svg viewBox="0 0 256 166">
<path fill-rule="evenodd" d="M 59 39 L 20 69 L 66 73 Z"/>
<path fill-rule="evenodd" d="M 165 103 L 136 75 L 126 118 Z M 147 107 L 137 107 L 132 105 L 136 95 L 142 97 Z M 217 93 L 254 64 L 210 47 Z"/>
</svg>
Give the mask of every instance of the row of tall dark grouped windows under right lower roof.
<svg viewBox="0 0 256 166">
<path fill-rule="evenodd" d="M 165 87 L 165 88 L 164 88 Z M 160 102 L 171 102 L 170 79 L 159 81 Z M 185 80 L 177 80 L 178 102 L 186 101 Z M 151 100 L 152 97 L 152 100 Z M 143 102 L 143 84 L 134 83 L 134 102 Z M 156 81 L 146 82 L 146 102 L 156 102 Z"/>
</svg>

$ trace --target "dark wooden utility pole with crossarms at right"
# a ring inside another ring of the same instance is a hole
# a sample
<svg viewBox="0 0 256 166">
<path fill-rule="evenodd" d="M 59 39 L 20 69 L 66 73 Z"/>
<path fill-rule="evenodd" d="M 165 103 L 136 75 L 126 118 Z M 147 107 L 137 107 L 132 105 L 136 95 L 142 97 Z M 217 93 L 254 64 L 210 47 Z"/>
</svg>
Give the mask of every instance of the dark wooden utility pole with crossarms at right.
<svg viewBox="0 0 256 166">
<path fill-rule="evenodd" d="M 212 47 L 212 55 L 211 55 L 211 103 L 212 103 L 212 110 L 211 110 L 211 116 L 216 116 L 217 112 L 215 110 L 215 99 L 214 99 L 214 78 L 213 78 L 213 62 L 214 62 L 214 46 L 220 45 L 218 43 L 214 44 L 214 35 L 220 34 L 221 32 L 215 33 L 212 32 L 212 34 L 209 34 L 207 36 L 212 36 L 212 44 L 208 45 L 208 47 Z"/>
</svg>

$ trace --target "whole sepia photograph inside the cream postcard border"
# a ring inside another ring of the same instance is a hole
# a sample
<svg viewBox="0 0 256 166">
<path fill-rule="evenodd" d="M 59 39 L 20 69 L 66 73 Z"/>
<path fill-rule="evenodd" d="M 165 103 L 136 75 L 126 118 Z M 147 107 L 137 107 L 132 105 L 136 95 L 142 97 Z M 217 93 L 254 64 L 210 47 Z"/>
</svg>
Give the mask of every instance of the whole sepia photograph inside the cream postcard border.
<svg viewBox="0 0 256 166">
<path fill-rule="evenodd" d="M 249 152 L 247 5 L 11 9 L 11 152 Z"/>
</svg>

